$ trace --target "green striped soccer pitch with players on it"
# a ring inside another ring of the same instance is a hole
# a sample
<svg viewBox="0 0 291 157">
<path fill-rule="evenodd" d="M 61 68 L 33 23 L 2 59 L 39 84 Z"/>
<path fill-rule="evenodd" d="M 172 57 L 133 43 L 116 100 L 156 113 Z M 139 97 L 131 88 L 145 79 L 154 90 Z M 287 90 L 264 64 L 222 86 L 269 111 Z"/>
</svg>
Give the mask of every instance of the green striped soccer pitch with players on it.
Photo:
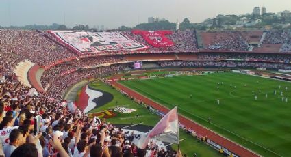
<svg viewBox="0 0 291 157">
<path fill-rule="evenodd" d="M 119 83 L 262 156 L 290 152 L 290 83 L 232 72 Z"/>
</svg>

